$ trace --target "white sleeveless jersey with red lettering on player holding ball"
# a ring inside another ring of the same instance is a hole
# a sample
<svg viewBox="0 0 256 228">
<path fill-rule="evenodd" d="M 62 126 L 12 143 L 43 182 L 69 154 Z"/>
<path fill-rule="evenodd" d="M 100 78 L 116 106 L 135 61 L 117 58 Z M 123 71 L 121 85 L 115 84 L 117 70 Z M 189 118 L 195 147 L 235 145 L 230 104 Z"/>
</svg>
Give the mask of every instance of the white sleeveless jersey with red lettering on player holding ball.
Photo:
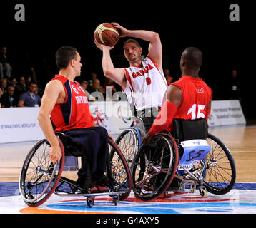
<svg viewBox="0 0 256 228">
<path fill-rule="evenodd" d="M 129 103 L 134 98 L 136 109 L 143 110 L 151 107 L 161 107 L 162 98 L 167 90 L 164 73 L 156 66 L 151 58 L 142 61 L 142 68 L 124 68 L 127 76 L 126 93 Z"/>
</svg>

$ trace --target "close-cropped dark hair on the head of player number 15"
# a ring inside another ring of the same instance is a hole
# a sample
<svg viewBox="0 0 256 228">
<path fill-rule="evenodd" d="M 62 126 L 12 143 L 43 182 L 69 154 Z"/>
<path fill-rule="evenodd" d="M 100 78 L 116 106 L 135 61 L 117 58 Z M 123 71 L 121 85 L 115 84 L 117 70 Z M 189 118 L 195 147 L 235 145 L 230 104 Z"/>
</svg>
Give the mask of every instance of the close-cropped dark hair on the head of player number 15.
<svg viewBox="0 0 256 228">
<path fill-rule="evenodd" d="M 188 68 L 197 70 L 202 65 L 202 52 L 198 48 L 189 47 L 182 53 L 185 64 Z"/>
</svg>

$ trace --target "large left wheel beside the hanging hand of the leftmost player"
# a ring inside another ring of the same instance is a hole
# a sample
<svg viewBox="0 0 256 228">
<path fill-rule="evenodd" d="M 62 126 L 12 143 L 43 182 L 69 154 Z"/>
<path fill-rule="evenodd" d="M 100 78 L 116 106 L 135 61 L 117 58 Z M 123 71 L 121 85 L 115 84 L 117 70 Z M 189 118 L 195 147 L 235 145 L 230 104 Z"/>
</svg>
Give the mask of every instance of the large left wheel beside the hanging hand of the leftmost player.
<svg viewBox="0 0 256 228">
<path fill-rule="evenodd" d="M 59 138 L 58 138 L 59 140 Z M 55 165 L 49 157 L 49 142 L 44 139 L 34 145 L 26 156 L 19 178 L 19 190 L 24 202 L 30 207 L 43 204 L 54 192 L 64 167 L 64 147 L 60 164 Z"/>
</svg>

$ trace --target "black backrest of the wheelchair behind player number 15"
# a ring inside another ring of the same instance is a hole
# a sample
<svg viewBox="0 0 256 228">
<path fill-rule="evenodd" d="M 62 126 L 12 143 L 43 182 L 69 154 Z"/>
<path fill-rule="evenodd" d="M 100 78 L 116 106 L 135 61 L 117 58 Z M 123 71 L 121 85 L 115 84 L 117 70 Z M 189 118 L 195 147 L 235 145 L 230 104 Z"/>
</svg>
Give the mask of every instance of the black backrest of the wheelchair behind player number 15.
<svg viewBox="0 0 256 228">
<path fill-rule="evenodd" d="M 172 136 L 179 142 L 194 139 L 205 140 L 207 135 L 208 126 L 205 118 L 195 120 L 173 119 Z"/>
</svg>

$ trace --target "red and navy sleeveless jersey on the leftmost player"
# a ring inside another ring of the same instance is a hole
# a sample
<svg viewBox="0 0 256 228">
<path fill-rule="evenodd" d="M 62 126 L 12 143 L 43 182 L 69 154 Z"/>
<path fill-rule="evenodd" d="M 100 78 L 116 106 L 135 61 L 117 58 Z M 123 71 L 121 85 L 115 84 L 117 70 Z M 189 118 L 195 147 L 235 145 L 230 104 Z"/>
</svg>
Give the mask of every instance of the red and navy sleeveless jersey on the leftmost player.
<svg viewBox="0 0 256 228">
<path fill-rule="evenodd" d="M 66 93 L 64 103 L 56 103 L 51 112 L 51 120 L 56 127 L 54 131 L 91 128 L 94 125 L 94 118 L 80 84 L 77 81 L 69 81 L 61 75 L 56 75 L 52 80 L 61 81 Z"/>
</svg>

